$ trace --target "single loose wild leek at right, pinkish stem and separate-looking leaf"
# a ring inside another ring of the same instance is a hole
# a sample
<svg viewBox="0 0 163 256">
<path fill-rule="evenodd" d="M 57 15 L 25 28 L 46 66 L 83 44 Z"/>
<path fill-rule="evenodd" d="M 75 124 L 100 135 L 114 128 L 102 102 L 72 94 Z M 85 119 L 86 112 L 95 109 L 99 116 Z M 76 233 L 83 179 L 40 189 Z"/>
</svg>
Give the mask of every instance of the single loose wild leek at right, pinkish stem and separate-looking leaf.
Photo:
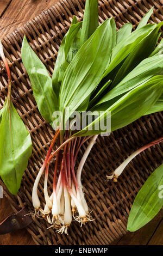
<svg viewBox="0 0 163 256">
<path fill-rule="evenodd" d="M 128 163 L 134 159 L 141 152 L 145 151 L 152 146 L 163 142 L 163 137 L 156 139 L 153 142 L 137 149 L 131 154 L 123 163 L 120 164 L 114 173 L 110 176 L 106 176 L 107 179 L 113 179 L 117 182 L 118 176 L 120 176 L 128 165 Z M 133 206 L 130 211 L 127 229 L 129 231 L 136 231 L 144 225 L 146 225 L 152 218 L 158 214 L 163 206 L 163 164 L 158 167 L 147 179 L 141 190 L 137 194 Z M 160 191 L 162 190 L 162 192 Z"/>
</svg>

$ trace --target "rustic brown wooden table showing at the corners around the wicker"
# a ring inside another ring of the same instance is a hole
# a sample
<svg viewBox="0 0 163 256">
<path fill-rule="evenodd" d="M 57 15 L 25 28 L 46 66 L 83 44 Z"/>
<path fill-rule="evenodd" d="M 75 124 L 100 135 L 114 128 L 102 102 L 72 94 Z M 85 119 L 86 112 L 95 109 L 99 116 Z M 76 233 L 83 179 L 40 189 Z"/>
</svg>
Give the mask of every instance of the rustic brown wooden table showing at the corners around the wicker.
<svg viewBox="0 0 163 256">
<path fill-rule="evenodd" d="M 21 27 L 27 21 L 39 15 L 58 0 L 0 0 L 0 38 Z M 12 214 L 6 198 L 0 199 L 0 221 Z M 134 233 L 128 233 L 114 245 L 162 245 L 163 210 L 145 227 Z M 0 245 L 34 245 L 26 229 L 7 235 L 0 235 Z"/>
</svg>

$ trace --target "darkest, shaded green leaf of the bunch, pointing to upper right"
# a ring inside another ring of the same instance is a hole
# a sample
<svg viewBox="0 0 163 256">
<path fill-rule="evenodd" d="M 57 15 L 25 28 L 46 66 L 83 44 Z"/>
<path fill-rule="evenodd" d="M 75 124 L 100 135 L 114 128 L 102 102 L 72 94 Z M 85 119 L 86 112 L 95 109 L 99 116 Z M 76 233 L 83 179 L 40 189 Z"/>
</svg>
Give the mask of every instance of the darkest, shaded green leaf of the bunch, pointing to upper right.
<svg viewBox="0 0 163 256">
<path fill-rule="evenodd" d="M 143 59 L 149 57 L 154 50 L 156 42 L 158 41 L 158 31 L 161 26 L 162 22 L 160 22 L 159 26 L 156 26 L 151 33 L 143 38 L 129 54 L 126 61 L 119 69 L 114 81 L 112 82 L 111 88 L 114 88 L 118 83 L 120 83 L 121 80 L 126 77 L 129 72 L 133 70 Z"/>
</svg>

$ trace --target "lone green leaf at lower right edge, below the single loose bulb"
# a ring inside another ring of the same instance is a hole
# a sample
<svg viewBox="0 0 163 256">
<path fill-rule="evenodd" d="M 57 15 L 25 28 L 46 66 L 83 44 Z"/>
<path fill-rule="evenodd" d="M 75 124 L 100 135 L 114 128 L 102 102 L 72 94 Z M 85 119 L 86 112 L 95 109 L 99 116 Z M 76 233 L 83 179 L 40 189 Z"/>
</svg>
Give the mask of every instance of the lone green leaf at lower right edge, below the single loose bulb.
<svg viewBox="0 0 163 256">
<path fill-rule="evenodd" d="M 163 206 L 163 164 L 146 180 L 134 200 L 127 229 L 136 231 L 151 221 Z"/>
</svg>

